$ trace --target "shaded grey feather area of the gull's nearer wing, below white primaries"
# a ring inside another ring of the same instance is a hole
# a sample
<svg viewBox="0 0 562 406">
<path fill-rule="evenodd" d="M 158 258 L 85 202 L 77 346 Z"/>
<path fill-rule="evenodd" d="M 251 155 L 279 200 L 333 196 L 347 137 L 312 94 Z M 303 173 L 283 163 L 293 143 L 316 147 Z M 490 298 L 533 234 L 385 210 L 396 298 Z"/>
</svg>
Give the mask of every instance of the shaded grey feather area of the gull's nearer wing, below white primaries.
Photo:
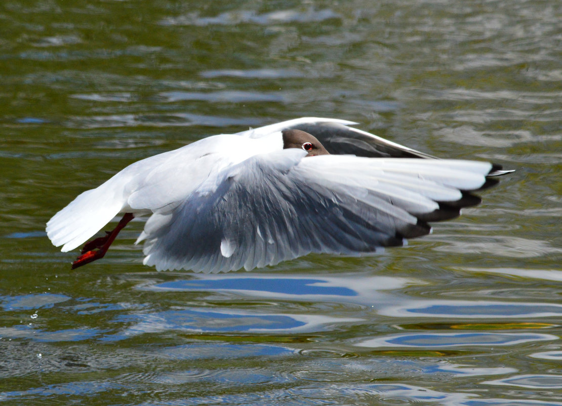
<svg viewBox="0 0 562 406">
<path fill-rule="evenodd" d="M 253 269 L 309 252 L 360 255 L 427 234 L 415 216 L 360 186 L 299 170 L 300 150 L 257 155 L 194 192 L 146 233 L 157 269 Z M 311 159 L 311 158 L 307 158 Z"/>
</svg>

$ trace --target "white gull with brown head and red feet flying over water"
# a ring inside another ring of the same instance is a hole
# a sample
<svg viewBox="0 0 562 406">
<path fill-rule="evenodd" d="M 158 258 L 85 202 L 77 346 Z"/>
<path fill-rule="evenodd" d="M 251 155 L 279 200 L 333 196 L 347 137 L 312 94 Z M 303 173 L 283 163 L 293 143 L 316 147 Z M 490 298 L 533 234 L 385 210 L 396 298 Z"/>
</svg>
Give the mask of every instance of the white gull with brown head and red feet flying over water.
<svg viewBox="0 0 562 406">
<path fill-rule="evenodd" d="M 367 255 L 430 233 L 510 170 L 437 159 L 352 121 L 300 118 L 200 139 L 127 166 L 47 223 L 72 269 L 103 258 L 133 218 L 157 270 L 251 270 L 311 252 Z M 115 216 L 105 236 L 93 237 Z"/>
</svg>

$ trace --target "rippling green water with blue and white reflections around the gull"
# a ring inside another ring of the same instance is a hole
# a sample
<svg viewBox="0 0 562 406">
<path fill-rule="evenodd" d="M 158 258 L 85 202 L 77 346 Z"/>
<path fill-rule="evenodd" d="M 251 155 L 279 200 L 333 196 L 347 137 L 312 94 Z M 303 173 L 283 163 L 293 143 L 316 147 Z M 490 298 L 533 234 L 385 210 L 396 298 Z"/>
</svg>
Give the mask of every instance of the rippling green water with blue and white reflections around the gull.
<svg viewBox="0 0 562 406">
<path fill-rule="evenodd" d="M 5 1 L 0 403 L 561 405 L 562 3 Z M 300 116 L 516 169 L 432 235 L 215 276 L 44 223 L 142 157 Z"/>
</svg>

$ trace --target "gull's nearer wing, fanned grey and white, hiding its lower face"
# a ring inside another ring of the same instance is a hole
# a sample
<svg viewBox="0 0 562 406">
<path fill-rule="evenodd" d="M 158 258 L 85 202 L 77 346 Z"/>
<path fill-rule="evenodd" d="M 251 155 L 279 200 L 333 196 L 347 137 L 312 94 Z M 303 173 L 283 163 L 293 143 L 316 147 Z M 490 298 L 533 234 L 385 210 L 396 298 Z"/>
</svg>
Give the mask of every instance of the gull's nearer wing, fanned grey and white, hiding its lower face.
<svg viewBox="0 0 562 406">
<path fill-rule="evenodd" d="M 474 161 L 251 157 L 147 222 L 144 263 L 226 272 L 310 252 L 361 255 L 422 236 L 438 202 L 482 186 L 491 164 Z"/>
</svg>

